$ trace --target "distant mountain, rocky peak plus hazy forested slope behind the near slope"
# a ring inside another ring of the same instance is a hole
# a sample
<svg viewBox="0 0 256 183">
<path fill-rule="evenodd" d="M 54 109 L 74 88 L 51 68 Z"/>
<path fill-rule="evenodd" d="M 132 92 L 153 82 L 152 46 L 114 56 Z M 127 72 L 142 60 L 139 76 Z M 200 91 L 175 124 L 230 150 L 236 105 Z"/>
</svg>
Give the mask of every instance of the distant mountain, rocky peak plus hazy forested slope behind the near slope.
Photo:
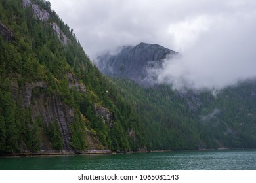
<svg viewBox="0 0 256 183">
<path fill-rule="evenodd" d="M 158 48 L 160 52 L 156 52 Z M 143 134 L 147 148 L 255 148 L 256 80 L 218 92 L 173 90 L 154 80 L 145 82 L 150 65 L 163 67 L 162 59 L 176 54 L 156 44 L 141 43 L 98 56 L 99 69 L 112 77 L 125 101 L 133 103 L 137 119 L 146 124 L 146 132 L 151 134 Z"/>
</svg>

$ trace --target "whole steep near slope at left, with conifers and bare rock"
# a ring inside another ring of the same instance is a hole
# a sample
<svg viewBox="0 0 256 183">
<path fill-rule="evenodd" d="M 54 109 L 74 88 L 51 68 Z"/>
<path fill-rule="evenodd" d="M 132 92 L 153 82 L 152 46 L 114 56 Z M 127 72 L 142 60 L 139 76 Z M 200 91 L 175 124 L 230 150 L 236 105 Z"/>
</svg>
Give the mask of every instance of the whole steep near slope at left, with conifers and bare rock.
<svg viewBox="0 0 256 183">
<path fill-rule="evenodd" d="M 139 133 L 129 135 L 137 128 L 133 110 L 49 2 L 1 1 L 0 21 L 1 154 L 140 146 Z"/>
</svg>

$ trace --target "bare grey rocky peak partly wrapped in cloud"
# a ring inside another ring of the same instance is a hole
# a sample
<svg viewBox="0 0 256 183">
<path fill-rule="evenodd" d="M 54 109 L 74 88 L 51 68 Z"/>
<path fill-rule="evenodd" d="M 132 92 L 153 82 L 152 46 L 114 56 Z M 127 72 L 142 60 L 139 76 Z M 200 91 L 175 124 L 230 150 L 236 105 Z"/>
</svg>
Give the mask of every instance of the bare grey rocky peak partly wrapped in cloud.
<svg viewBox="0 0 256 183">
<path fill-rule="evenodd" d="M 163 59 L 176 54 L 158 44 L 140 43 L 100 54 L 96 63 L 105 75 L 129 78 L 142 86 L 152 86 L 156 80 L 148 75 L 148 69 L 162 67 Z"/>
</svg>

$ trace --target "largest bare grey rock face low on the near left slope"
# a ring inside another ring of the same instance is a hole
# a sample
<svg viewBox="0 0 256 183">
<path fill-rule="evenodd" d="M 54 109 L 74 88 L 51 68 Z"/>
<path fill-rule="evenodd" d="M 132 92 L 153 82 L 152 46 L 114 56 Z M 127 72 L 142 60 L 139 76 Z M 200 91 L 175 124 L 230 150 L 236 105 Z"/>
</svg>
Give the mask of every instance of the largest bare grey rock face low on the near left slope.
<svg viewBox="0 0 256 183">
<path fill-rule="evenodd" d="M 70 147 L 70 125 L 74 120 L 74 108 L 68 107 L 58 95 L 47 96 L 43 92 L 33 92 L 33 90 L 40 91 L 47 88 L 44 82 L 26 82 L 24 86 L 19 86 L 18 82 L 14 80 L 11 84 L 12 98 L 14 101 L 21 101 L 21 107 L 24 109 L 30 108 L 32 120 L 41 118 L 43 125 L 47 126 L 56 120 L 60 127 L 62 139 L 64 140 L 63 149 L 66 151 L 72 150 Z M 32 97 L 32 95 L 35 95 Z M 45 136 L 45 135 L 43 135 Z M 26 150 L 26 147 L 22 147 Z M 49 140 L 45 137 L 41 139 L 41 150 L 51 151 L 53 147 Z"/>
</svg>

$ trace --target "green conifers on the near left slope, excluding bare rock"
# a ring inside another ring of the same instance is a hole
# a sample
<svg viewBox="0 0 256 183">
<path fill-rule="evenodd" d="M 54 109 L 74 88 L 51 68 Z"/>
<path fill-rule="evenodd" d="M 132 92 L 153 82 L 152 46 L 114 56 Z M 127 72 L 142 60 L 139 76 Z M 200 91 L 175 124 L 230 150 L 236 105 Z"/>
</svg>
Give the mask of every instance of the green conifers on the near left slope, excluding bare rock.
<svg viewBox="0 0 256 183">
<path fill-rule="evenodd" d="M 45 122 L 41 116 L 35 118 L 31 110 L 32 105 L 42 97 L 49 99 L 53 96 L 76 111 L 68 127 L 72 148 L 87 150 L 85 135 L 90 129 L 96 131 L 102 148 L 129 150 L 127 131 L 135 125 L 134 120 L 130 120 L 133 118 L 129 112 L 131 108 L 121 100 L 108 78 L 90 62 L 73 31 L 51 10 L 50 3 L 41 0 L 32 2 L 50 13 L 47 22 L 36 18 L 32 7 L 24 8 L 21 0 L 0 3 L 0 21 L 14 34 L 13 41 L 6 41 L 0 35 L 0 152 L 36 152 L 41 149 L 45 137 L 54 150 L 64 148 L 57 116 Z M 68 37 L 68 44 L 64 44 L 53 31 L 53 22 Z M 32 104 L 24 107 L 22 91 L 27 83 L 35 82 L 43 82 L 46 87 L 33 88 Z M 16 83 L 18 93 L 13 93 L 13 84 Z M 84 84 L 85 91 L 79 92 L 80 86 L 77 88 L 76 84 Z M 96 116 L 95 104 L 112 112 L 111 127 Z M 121 106 L 125 108 L 119 110 Z"/>
</svg>

